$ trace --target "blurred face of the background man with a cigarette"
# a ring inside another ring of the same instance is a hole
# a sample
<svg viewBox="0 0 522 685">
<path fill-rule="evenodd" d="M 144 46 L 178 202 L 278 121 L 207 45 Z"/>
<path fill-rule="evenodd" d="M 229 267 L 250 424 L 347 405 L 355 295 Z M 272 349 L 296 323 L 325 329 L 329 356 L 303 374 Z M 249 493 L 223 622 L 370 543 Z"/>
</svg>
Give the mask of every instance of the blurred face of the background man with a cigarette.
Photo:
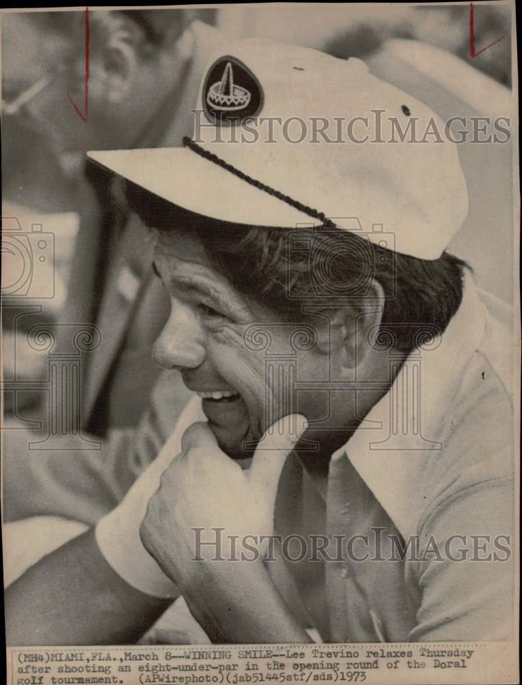
<svg viewBox="0 0 522 685">
<path fill-rule="evenodd" d="M 114 147 L 114 121 L 125 130 L 127 115 L 108 99 L 99 48 L 90 51 L 86 105 L 84 15 L 76 14 L 76 23 L 60 32 L 50 32 L 38 14 L 12 14 L 2 29 L 2 98 L 8 105 L 21 101 L 16 123 L 45 136 L 58 154 Z"/>
</svg>

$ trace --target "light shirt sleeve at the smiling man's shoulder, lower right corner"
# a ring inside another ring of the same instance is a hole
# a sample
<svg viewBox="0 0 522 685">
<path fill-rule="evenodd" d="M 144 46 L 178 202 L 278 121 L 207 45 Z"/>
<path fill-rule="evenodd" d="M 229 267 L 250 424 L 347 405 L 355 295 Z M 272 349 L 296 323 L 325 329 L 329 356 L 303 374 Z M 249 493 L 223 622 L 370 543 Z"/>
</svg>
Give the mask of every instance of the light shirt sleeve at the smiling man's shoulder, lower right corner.
<svg viewBox="0 0 522 685">
<path fill-rule="evenodd" d="M 473 484 L 440 503 L 421 527 L 417 560 L 408 562 L 419 588 L 410 640 L 513 639 L 513 545 L 509 477 Z"/>
</svg>

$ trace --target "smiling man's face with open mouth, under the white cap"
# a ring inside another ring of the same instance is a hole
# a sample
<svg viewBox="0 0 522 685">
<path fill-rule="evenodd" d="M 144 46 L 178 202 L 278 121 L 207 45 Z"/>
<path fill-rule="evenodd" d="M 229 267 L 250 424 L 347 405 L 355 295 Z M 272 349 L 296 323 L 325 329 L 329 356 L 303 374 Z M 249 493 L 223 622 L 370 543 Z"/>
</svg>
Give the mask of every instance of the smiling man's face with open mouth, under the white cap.
<svg viewBox="0 0 522 685">
<path fill-rule="evenodd" d="M 251 456 L 264 431 L 286 414 L 324 420 L 321 393 L 295 393 L 297 369 L 299 379 L 325 387 L 330 355 L 314 344 L 321 331 L 288 323 L 247 299 L 216 271 L 195 238 L 162 232 L 154 264 L 171 297 L 154 358 L 179 369 L 186 386 L 202 397 L 223 451 Z"/>
</svg>

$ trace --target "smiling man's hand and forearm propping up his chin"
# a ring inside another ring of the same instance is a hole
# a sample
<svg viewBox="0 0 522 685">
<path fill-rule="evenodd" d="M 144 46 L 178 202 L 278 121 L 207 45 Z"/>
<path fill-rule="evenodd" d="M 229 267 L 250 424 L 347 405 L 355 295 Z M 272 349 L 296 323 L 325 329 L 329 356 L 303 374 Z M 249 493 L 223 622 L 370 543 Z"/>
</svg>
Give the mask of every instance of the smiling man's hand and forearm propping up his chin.
<svg viewBox="0 0 522 685">
<path fill-rule="evenodd" d="M 208 425 L 195 423 L 149 500 L 140 530 L 143 544 L 175 580 L 212 641 L 308 641 L 284 607 L 262 556 L 241 557 L 245 536 L 273 533 L 279 477 L 305 429 L 302 416 L 279 419 L 245 472 L 221 451 Z M 203 529 L 203 541 L 214 540 L 214 528 L 223 529 L 219 553 L 208 546 L 202 548 L 206 553 L 197 550 L 195 529 Z M 212 561 L 219 554 L 224 560 Z M 197 556 L 206 558 L 197 561 Z"/>
</svg>

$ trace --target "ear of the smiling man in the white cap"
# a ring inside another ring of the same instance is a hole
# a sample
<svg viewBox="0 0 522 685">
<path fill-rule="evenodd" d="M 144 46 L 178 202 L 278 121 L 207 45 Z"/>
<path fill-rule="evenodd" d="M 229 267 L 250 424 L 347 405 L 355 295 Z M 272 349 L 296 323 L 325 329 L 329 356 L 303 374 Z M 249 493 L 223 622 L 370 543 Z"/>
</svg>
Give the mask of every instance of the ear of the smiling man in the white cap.
<svg viewBox="0 0 522 685">
<path fill-rule="evenodd" d="M 359 301 L 339 308 L 335 314 L 338 326 L 340 362 L 347 373 L 364 364 L 375 348 L 375 338 L 384 312 L 384 290 L 372 279 L 369 291 Z"/>
</svg>

